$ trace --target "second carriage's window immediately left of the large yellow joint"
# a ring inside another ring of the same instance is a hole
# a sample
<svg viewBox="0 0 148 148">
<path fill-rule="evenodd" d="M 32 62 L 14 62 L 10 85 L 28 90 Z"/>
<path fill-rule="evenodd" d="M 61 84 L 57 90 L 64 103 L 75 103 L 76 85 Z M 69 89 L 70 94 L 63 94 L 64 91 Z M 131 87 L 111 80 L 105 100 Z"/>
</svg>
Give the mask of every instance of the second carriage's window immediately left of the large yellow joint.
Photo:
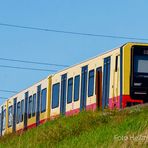
<svg viewBox="0 0 148 148">
<path fill-rule="evenodd" d="M 47 89 L 43 89 L 41 93 L 41 113 L 46 111 Z"/>
</svg>

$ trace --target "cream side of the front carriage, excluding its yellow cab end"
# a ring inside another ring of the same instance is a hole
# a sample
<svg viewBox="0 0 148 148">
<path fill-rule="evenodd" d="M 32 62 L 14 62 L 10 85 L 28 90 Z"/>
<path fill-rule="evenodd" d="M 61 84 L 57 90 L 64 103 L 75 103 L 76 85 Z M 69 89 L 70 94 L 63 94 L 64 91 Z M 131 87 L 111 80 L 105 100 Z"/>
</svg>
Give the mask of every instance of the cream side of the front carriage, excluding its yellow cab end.
<svg viewBox="0 0 148 148">
<path fill-rule="evenodd" d="M 120 48 L 56 73 L 52 76 L 51 118 L 108 104 L 112 107 L 113 98 L 119 107 L 119 75 Z"/>
</svg>

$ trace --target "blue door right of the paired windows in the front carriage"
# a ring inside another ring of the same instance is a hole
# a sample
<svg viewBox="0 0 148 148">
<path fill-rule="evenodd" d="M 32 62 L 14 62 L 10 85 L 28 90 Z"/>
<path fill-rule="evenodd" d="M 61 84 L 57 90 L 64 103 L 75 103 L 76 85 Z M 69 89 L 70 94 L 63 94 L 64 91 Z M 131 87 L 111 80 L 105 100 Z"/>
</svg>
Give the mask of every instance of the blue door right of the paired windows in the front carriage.
<svg viewBox="0 0 148 148">
<path fill-rule="evenodd" d="M 82 67 L 81 71 L 81 99 L 80 99 L 80 111 L 86 108 L 86 98 L 87 98 L 87 75 L 88 66 Z"/>
</svg>

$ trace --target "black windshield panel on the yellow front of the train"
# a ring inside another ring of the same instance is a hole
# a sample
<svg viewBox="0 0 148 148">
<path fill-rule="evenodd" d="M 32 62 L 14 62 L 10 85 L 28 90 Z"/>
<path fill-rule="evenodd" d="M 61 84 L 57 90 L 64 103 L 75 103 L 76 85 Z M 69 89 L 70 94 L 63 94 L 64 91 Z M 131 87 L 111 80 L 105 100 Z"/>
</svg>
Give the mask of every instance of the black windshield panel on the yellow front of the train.
<svg viewBox="0 0 148 148">
<path fill-rule="evenodd" d="M 130 95 L 134 99 L 148 102 L 148 46 L 135 45 L 131 53 Z"/>
</svg>

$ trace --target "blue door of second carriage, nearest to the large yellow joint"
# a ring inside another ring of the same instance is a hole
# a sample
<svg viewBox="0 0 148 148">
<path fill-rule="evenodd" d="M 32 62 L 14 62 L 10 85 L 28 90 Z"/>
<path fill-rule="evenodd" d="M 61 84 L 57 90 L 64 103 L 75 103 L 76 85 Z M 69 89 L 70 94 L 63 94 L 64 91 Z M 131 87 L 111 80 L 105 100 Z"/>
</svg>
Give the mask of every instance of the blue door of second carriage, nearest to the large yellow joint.
<svg viewBox="0 0 148 148">
<path fill-rule="evenodd" d="M 40 124 L 41 85 L 37 86 L 36 126 Z"/>
</svg>

